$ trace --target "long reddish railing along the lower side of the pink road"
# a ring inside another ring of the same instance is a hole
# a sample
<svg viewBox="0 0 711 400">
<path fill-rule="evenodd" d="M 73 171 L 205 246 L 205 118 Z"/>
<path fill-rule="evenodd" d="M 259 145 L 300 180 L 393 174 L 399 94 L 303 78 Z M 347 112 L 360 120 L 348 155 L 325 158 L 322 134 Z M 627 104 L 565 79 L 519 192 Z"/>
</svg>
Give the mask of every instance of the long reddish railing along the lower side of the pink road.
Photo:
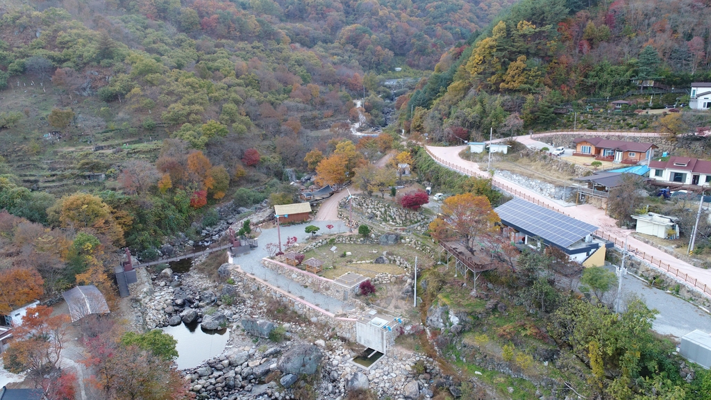
<svg viewBox="0 0 711 400">
<path fill-rule="evenodd" d="M 432 159 L 437 161 L 439 164 L 444 165 L 445 167 L 454 169 L 454 171 L 461 172 L 462 174 L 466 174 L 466 175 L 479 175 L 482 177 L 486 176 L 486 174 L 484 172 L 474 171 L 473 169 L 466 169 L 463 167 L 459 167 L 458 165 L 455 165 L 451 162 L 444 161 L 444 159 L 441 159 L 441 158 L 437 157 L 436 155 L 432 154 L 432 152 L 430 152 L 427 147 L 425 147 L 424 149 L 427 151 L 427 154 L 429 154 L 429 156 L 432 157 Z M 571 218 L 574 218 L 570 214 L 567 214 L 567 213 L 561 211 L 560 209 L 557 209 L 554 206 L 545 204 L 543 201 L 540 201 L 539 199 L 535 199 L 535 197 L 530 196 L 529 194 L 525 194 L 522 191 L 519 191 L 518 189 L 514 189 L 513 187 L 508 186 L 507 184 L 502 184 L 501 182 L 494 181 L 493 179 L 491 180 L 491 183 L 494 186 L 502 189 L 503 191 L 507 191 L 508 193 L 513 194 L 514 196 L 520 197 L 521 199 L 528 200 L 533 204 L 538 204 L 539 206 L 545 207 L 547 209 L 556 211 L 560 214 L 564 214 L 564 215 L 570 216 Z M 621 240 L 620 238 L 616 238 L 615 236 L 612 236 L 609 233 L 598 230 L 598 231 L 595 231 L 594 234 L 601 237 L 601 238 L 604 238 L 605 240 L 611 241 L 612 243 L 614 243 L 615 246 L 617 246 L 619 248 L 624 247 L 623 240 Z M 638 248 L 636 248 L 634 246 L 627 245 L 627 251 L 629 251 L 630 253 L 633 253 L 634 256 L 636 256 L 637 258 L 647 261 L 653 267 L 663 270 L 664 272 L 669 273 L 670 275 L 673 275 L 675 278 L 683 280 L 685 283 L 693 285 L 694 288 L 697 288 L 702 293 L 704 293 L 709 298 L 711 298 L 711 287 L 706 285 L 705 283 L 700 283 L 696 278 L 690 277 L 687 273 L 680 271 L 678 268 L 674 268 L 671 265 L 669 265 L 668 263 L 665 263 L 664 261 L 659 260 L 658 258 L 654 258 L 653 256 L 647 254 L 646 252 L 640 251 Z"/>
</svg>

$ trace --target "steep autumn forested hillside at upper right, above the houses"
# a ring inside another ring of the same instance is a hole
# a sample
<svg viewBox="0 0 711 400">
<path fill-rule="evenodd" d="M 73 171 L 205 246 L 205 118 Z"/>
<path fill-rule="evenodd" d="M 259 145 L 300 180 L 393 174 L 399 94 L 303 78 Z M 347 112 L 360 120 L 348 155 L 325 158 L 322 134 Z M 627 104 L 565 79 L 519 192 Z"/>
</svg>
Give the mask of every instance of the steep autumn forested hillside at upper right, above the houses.
<svg viewBox="0 0 711 400">
<path fill-rule="evenodd" d="M 451 49 L 427 84 L 399 105 L 408 115 L 421 107 L 412 119 L 415 132 L 450 140 L 481 135 L 489 127 L 506 136 L 569 126 L 570 117 L 555 112 L 604 107 L 606 99 L 642 84 L 688 90 L 691 82 L 711 78 L 709 5 L 702 0 L 521 1 L 471 46 Z M 688 96 L 644 99 L 658 108 Z M 406 119 L 402 115 L 409 128 Z"/>
</svg>

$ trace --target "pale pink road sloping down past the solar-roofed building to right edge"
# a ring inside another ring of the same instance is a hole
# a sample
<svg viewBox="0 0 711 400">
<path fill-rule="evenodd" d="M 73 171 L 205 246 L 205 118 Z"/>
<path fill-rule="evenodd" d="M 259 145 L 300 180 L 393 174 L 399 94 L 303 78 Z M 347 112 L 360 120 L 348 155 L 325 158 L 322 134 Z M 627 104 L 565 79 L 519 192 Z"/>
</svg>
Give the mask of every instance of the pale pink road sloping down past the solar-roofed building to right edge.
<svg viewBox="0 0 711 400">
<path fill-rule="evenodd" d="M 461 150 L 465 147 L 466 146 L 428 146 L 427 149 L 429 149 L 429 151 L 432 152 L 432 154 L 434 154 L 439 159 L 447 160 L 447 162 L 454 165 L 457 169 L 464 169 L 468 175 L 474 174 L 482 177 L 488 177 L 488 174 L 486 172 L 483 172 L 481 171 L 481 169 L 479 169 L 478 164 L 459 157 L 459 152 L 461 152 Z M 572 216 L 574 219 L 579 219 L 580 221 L 592 223 L 593 225 L 598 226 L 600 231 L 604 233 L 608 233 L 623 241 L 627 239 L 629 241 L 629 246 L 634 246 L 635 248 L 638 248 L 639 251 L 653 256 L 654 258 L 661 260 L 664 263 L 668 263 L 673 268 L 678 268 L 680 272 L 686 273 L 692 278 L 696 278 L 698 282 L 705 283 L 706 285 L 711 286 L 711 270 L 697 268 L 683 260 L 679 260 L 678 258 L 675 258 L 674 256 L 671 256 L 670 254 L 659 250 L 656 247 L 649 246 L 646 243 L 638 241 L 638 239 L 630 236 L 630 233 L 632 232 L 631 230 L 618 228 L 616 226 L 616 221 L 611 217 L 606 216 L 605 211 L 602 209 L 598 209 L 597 207 L 591 206 L 589 204 L 582 204 L 579 206 L 566 206 L 567 204 L 561 204 L 560 201 L 549 199 L 545 196 L 535 193 L 534 191 L 531 191 L 530 189 L 515 184 L 512 181 L 502 179 L 501 177 L 498 177 L 496 175 L 493 177 L 493 180 L 497 184 L 508 185 L 511 188 L 519 191 L 520 193 L 525 194 L 526 196 L 529 196 L 530 198 L 535 199 L 536 201 L 540 201 L 540 203 L 542 204 L 552 206 L 564 212 L 568 216 Z"/>
</svg>

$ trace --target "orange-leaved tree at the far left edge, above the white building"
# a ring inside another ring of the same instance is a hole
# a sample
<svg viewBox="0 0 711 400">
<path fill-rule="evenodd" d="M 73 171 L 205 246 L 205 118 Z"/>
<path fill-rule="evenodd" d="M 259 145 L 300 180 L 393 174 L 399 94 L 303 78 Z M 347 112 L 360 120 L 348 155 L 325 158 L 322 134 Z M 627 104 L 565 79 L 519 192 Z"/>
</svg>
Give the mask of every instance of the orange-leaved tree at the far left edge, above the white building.
<svg viewBox="0 0 711 400">
<path fill-rule="evenodd" d="M 44 294 L 44 280 L 32 268 L 9 268 L 0 270 L 0 314 L 37 300 Z"/>
</svg>

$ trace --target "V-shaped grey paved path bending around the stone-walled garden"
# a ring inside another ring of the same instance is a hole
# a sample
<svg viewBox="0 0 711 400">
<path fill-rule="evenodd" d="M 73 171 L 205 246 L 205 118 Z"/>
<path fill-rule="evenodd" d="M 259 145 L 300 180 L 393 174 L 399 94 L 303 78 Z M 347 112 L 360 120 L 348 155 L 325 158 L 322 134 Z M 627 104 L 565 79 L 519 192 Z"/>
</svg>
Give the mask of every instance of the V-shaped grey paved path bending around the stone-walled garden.
<svg viewBox="0 0 711 400">
<path fill-rule="evenodd" d="M 306 238 L 309 237 L 309 233 L 304 232 L 304 227 L 308 225 L 316 225 L 321 228 L 321 233 L 328 232 L 326 225 L 332 224 L 334 226 L 332 232 L 339 233 L 346 231 L 343 221 L 310 221 L 307 223 L 301 223 L 299 225 L 292 226 L 282 226 L 282 245 L 286 243 L 288 236 L 296 236 L 298 239 L 297 243 L 301 243 L 301 246 L 305 246 Z M 269 268 L 265 268 L 262 265 L 262 258 L 267 257 L 267 251 L 264 249 L 267 243 L 278 243 L 277 239 L 277 228 L 264 229 L 259 236 L 260 246 L 250 251 L 249 253 L 241 254 L 234 258 L 233 262 L 240 265 L 240 268 L 248 273 L 251 273 L 257 278 L 261 278 L 268 282 L 270 285 L 274 285 L 282 290 L 286 290 L 293 295 L 303 298 L 311 304 L 317 305 L 326 311 L 338 314 L 340 312 L 345 312 L 347 310 L 352 310 L 353 307 L 347 305 L 341 300 L 336 300 L 321 293 L 315 293 L 309 288 L 304 288 L 298 283 L 294 282 L 284 275 L 279 275 L 274 273 L 274 271 Z"/>
</svg>

